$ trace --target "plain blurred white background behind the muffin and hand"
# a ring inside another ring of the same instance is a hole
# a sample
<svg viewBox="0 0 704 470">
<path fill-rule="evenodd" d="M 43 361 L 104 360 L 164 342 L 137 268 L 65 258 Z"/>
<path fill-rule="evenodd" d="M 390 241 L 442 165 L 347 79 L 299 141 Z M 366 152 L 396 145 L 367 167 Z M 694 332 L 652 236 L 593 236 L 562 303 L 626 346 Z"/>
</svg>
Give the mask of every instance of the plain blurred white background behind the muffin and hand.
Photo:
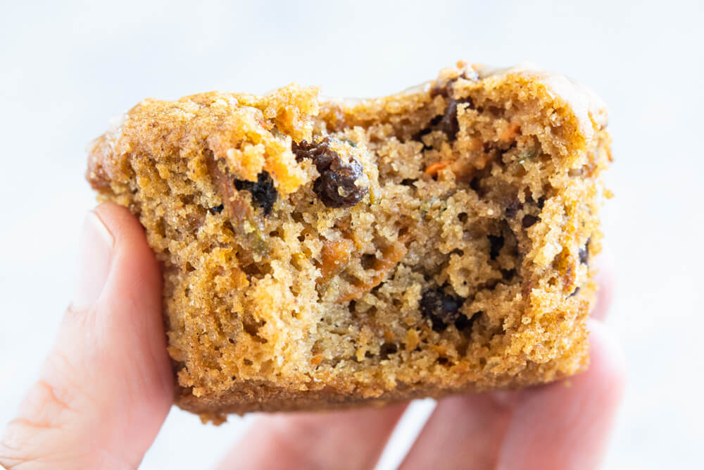
<svg viewBox="0 0 704 470">
<path fill-rule="evenodd" d="M 144 97 L 291 81 L 365 97 L 434 78 L 460 58 L 529 60 L 589 85 L 611 111 L 616 198 L 604 218 L 617 297 L 608 324 L 629 377 L 605 468 L 698 466 L 702 4 L 538 3 L 2 0 L 0 421 L 11 419 L 70 301 L 77 235 L 94 204 L 84 147 L 111 117 Z M 142 468 L 202 468 L 247 421 L 214 428 L 173 410 Z"/>
</svg>

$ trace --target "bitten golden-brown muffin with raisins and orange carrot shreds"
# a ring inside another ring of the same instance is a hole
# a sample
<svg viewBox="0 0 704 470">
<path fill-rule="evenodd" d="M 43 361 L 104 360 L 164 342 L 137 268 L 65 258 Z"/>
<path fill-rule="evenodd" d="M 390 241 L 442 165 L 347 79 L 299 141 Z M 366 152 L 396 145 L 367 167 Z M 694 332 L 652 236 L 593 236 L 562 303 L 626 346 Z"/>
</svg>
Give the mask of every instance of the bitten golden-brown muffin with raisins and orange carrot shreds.
<svg viewBox="0 0 704 470">
<path fill-rule="evenodd" d="M 582 371 L 610 159 L 591 92 L 460 62 L 378 99 L 146 99 L 87 178 L 161 262 L 176 403 L 218 422 Z"/>
</svg>

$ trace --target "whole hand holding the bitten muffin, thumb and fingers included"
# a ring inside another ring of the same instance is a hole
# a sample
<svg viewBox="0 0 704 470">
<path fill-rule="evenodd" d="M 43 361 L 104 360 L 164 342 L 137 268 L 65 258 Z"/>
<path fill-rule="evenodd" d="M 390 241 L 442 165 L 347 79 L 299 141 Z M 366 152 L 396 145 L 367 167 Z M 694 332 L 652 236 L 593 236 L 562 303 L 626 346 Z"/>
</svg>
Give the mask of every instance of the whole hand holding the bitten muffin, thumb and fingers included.
<svg viewBox="0 0 704 470">
<path fill-rule="evenodd" d="M 129 211 L 89 213 L 56 344 L 0 443 L 7 469 L 134 469 L 173 401 L 161 274 Z M 601 297 L 610 297 L 608 284 Z M 623 387 L 622 355 L 590 319 L 591 366 L 568 381 L 441 400 L 401 469 L 592 469 Z M 569 383 L 570 386 L 566 386 Z M 405 404 L 260 418 L 222 469 L 373 468 Z"/>
</svg>

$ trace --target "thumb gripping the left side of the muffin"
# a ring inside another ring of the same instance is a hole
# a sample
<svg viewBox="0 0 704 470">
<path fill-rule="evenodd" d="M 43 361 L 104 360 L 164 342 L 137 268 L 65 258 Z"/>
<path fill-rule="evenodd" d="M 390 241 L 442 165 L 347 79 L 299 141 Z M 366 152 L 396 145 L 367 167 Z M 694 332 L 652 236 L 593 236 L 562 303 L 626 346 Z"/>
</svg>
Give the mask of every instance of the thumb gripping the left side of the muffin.
<svg viewBox="0 0 704 470">
<path fill-rule="evenodd" d="M 80 251 L 73 304 L 0 442 L 8 469 L 136 468 L 172 404 L 161 274 L 142 226 L 102 204 Z"/>
</svg>

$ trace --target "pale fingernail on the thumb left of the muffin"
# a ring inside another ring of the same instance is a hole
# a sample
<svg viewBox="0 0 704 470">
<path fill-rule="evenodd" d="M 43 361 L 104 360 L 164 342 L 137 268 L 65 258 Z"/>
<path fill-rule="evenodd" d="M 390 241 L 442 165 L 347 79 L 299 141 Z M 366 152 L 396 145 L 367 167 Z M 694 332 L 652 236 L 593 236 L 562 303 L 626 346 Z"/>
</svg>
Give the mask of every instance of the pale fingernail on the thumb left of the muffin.
<svg viewBox="0 0 704 470">
<path fill-rule="evenodd" d="M 98 214 L 90 211 L 83 224 L 78 256 L 78 282 L 73 308 L 89 309 L 108 279 L 115 238 Z"/>
</svg>

